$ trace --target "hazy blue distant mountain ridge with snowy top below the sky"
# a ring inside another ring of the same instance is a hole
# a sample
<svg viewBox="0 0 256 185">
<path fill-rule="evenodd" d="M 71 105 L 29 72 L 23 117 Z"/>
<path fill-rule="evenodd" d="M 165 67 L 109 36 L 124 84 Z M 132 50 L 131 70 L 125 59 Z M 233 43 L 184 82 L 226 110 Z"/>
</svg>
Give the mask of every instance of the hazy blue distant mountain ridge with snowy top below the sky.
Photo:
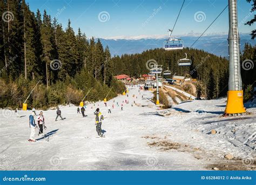
<svg viewBox="0 0 256 185">
<path fill-rule="evenodd" d="M 190 47 L 199 37 L 197 33 L 191 33 L 185 36 L 177 36 L 185 42 L 185 47 Z M 201 37 L 193 48 L 204 50 L 213 53 L 217 56 L 228 56 L 227 33 L 209 34 Z M 163 42 L 166 35 L 153 36 L 132 36 L 132 37 L 110 37 L 99 38 L 103 46 L 108 45 L 111 55 L 142 53 L 145 50 L 163 47 Z M 241 52 L 244 49 L 244 44 L 250 43 L 256 45 L 256 40 L 252 40 L 250 33 L 240 33 Z"/>
</svg>

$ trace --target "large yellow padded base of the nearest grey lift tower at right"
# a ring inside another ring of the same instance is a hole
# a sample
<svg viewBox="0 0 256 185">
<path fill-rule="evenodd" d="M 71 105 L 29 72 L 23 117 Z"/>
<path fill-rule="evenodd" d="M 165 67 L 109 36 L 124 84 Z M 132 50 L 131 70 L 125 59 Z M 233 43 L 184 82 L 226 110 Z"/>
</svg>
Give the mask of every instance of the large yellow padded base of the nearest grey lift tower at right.
<svg viewBox="0 0 256 185">
<path fill-rule="evenodd" d="M 228 91 L 225 114 L 245 113 L 242 91 Z"/>
</svg>

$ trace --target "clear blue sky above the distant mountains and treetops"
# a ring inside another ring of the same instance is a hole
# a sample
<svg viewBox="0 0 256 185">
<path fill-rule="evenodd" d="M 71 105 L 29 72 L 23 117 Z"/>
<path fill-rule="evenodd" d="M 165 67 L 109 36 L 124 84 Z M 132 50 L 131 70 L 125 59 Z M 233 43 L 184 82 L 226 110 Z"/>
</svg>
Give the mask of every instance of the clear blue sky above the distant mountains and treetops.
<svg viewBox="0 0 256 185">
<path fill-rule="evenodd" d="M 183 3 L 182 0 L 26 0 L 26 2 L 34 12 L 39 9 L 43 13 L 45 9 L 49 15 L 57 17 L 64 28 L 70 18 L 75 32 L 80 28 L 87 37 L 99 38 L 165 34 L 167 36 L 167 30 L 172 28 Z M 173 35 L 203 32 L 227 3 L 227 0 L 186 0 Z M 242 33 L 251 32 L 253 29 L 252 26 L 242 24 L 253 17 L 250 9 L 251 5 L 246 0 L 238 0 L 239 31 Z M 100 18 L 100 15 L 103 17 Z M 206 33 L 223 32 L 228 32 L 228 9 Z"/>
</svg>

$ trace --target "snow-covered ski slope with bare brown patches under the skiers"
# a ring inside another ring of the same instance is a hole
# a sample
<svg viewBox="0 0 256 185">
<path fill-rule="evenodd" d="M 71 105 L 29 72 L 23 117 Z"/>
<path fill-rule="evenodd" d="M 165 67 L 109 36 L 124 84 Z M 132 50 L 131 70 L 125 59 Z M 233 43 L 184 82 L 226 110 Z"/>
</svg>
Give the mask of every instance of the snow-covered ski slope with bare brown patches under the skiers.
<svg viewBox="0 0 256 185">
<path fill-rule="evenodd" d="M 107 102 L 111 114 L 103 102 L 88 105 L 86 118 L 75 106 L 60 106 L 63 121 L 55 121 L 56 110 L 44 111 L 48 137 L 37 137 L 35 143 L 27 141 L 30 111 L 19 111 L 17 117 L 14 111 L 0 110 L 0 169 L 205 170 L 228 165 L 235 169 L 236 164 L 255 169 L 256 108 L 248 108 L 252 115 L 222 118 L 225 99 L 186 101 L 160 110 L 151 98 L 152 92 L 139 94 L 136 87 L 129 97 Z M 123 103 L 120 111 L 117 102 L 121 105 L 125 99 L 129 104 Z M 131 106 L 133 101 L 136 105 Z M 97 107 L 105 116 L 105 138 L 97 138 Z M 217 133 L 211 134 L 212 129 Z M 228 153 L 233 160 L 224 159 Z"/>
</svg>

